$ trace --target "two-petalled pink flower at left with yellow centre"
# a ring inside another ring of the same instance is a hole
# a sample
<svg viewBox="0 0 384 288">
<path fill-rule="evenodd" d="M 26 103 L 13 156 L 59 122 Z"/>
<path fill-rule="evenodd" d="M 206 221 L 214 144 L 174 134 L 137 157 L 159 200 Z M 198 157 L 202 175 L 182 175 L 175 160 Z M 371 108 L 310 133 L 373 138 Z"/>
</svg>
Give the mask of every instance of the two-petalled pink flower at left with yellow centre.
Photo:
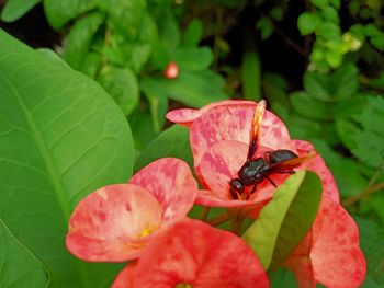
<svg viewBox="0 0 384 288">
<path fill-rule="evenodd" d="M 81 200 L 69 220 L 67 247 L 92 262 L 136 258 L 159 230 L 187 216 L 196 194 L 185 162 L 157 160 L 127 184 L 102 187 Z"/>
</svg>

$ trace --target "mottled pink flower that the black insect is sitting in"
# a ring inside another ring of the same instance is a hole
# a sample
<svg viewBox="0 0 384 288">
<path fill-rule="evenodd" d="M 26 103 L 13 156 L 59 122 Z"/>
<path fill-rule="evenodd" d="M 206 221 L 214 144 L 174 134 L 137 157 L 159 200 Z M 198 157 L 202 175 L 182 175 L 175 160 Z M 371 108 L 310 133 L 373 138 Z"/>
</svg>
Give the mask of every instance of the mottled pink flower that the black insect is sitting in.
<svg viewBox="0 0 384 288">
<path fill-rule="evenodd" d="M 196 176 L 204 186 L 196 203 L 206 206 L 253 209 L 253 214 L 272 197 L 275 187 L 268 181 L 257 186 L 248 200 L 233 199 L 229 182 L 247 160 L 251 125 L 256 103 L 249 101 L 223 101 L 201 110 L 178 110 L 167 114 L 170 120 L 190 127 L 190 141 Z M 283 122 L 273 113 L 266 111 L 260 125 L 260 142 L 253 157 L 263 157 L 266 152 L 287 149 L 300 157 L 309 148 L 306 142 L 291 140 Z M 316 163 L 316 164 L 314 164 Z M 318 165 L 319 164 L 319 165 Z M 325 171 L 324 181 L 335 181 L 319 155 L 306 164 L 309 170 Z M 317 172 L 316 171 L 316 172 Z M 271 178 L 280 185 L 286 174 L 273 174 Z M 335 185 L 336 187 L 336 185 Z M 328 191 L 338 200 L 338 191 Z"/>
</svg>

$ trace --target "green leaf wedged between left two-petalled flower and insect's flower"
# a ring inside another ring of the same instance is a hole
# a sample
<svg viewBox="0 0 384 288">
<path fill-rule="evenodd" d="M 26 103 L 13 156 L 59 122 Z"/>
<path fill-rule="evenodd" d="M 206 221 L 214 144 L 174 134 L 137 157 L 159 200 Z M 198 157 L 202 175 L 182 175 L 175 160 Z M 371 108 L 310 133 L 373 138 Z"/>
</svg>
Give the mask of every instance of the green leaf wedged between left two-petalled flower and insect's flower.
<svg viewBox="0 0 384 288">
<path fill-rule="evenodd" d="M 193 157 L 190 148 L 189 129 L 173 125 L 161 133 L 142 151 L 135 163 L 135 171 L 163 157 L 174 157 L 187 161 L 193 170 Z"/>
</svg>

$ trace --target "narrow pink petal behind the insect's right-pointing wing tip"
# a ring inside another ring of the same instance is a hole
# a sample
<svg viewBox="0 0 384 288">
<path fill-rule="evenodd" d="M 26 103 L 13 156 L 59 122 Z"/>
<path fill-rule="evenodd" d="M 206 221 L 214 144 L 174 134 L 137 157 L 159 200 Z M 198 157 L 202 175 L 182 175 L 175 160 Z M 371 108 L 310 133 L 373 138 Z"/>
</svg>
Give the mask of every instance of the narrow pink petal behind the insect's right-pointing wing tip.
<svg viewBox="0 0 384 288">
<path fill-rule="evenodd" d="M 296 146 L 298 155 L 305 153 L 306 151 L 313 151 L 314 147 L 312 143 L 303 140 L 293 140 Z M 323 195 L 332 199 L 336 203 L 340 203 L 339 188 L 336 184 L 332 173 L 327 168 L 321 155 L 315 157 L 307 163 L 303 164 L 303 168 L 315 172 L 321 180 L 323 184 Z"/>
</svg>

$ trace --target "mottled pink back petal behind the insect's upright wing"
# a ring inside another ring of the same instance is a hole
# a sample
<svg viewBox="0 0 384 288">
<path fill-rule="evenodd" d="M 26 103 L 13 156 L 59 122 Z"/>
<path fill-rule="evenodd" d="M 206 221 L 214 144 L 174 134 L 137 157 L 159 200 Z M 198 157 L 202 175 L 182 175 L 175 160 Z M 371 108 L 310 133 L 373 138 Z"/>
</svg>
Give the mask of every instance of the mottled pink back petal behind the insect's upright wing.
<svg viewBox="0 0 384 288">
<path fill-rule="evenodd" d="M 216 106 L 196 118 L 190 133 L 195 168 L 205 151 L 218 141 L 236 140 L 248 146 L 255 108 L 255 104 Z M 295 149 L 285 125 L 269 111 L 262 118 L 259 145 L 272 150 Z"/>
</svg>

